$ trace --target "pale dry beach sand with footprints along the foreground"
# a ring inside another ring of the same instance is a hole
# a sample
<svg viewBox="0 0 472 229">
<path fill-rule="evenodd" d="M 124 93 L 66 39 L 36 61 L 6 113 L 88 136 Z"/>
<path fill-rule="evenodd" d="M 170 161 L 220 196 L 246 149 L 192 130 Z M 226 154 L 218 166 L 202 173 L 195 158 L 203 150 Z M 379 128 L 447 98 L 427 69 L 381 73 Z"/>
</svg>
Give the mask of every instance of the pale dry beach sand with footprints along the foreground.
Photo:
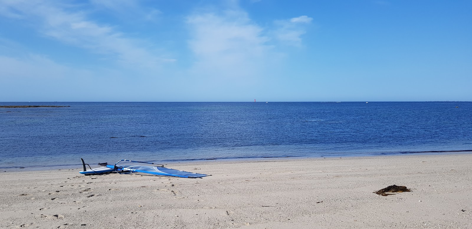
<svg viewBox="0 0 472 229">
<path fill-rule="evenodd" d="M 172 164 L 202 179 L 1 172 L 1 228 L 472 228 L 472 154 Z M 389 185 L 412 192 L 378 196 Z"/>
</svg>

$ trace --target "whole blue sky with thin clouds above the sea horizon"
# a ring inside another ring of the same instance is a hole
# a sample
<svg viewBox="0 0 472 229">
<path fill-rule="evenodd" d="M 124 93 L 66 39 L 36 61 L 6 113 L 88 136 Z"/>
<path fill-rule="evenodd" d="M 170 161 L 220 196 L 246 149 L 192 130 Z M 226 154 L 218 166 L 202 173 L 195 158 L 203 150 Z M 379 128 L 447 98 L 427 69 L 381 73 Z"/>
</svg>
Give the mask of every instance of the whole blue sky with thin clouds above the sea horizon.
<svg viewBox="0 0 472 229">
<path fill-rule="evenodd" d="M 472 101 L 470 0 L 0 0 L 0 101 Z"/>
</svg>

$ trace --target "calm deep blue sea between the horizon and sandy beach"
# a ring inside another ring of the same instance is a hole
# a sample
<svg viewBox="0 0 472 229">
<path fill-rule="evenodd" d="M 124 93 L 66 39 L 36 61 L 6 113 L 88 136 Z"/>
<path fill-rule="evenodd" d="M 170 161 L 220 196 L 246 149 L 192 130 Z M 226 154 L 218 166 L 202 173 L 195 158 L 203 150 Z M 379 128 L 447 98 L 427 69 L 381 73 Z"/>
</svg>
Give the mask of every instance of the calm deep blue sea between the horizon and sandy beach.
<svg viewBox="0 0 472 229">
<path fill-rule="evenodd" d="M 0 105 L 70 106 L 0 108 L 0 169 L 472 150 L 472 102 Z"/>
</svg>

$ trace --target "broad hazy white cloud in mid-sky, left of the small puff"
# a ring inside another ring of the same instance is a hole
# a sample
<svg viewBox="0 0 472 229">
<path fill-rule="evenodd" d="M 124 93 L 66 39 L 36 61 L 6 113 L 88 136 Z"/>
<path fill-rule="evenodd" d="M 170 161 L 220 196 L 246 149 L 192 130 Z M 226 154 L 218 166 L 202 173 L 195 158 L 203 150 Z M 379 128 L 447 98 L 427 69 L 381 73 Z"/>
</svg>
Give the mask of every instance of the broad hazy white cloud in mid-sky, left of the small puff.
<svg viewBox="0 0 472 229">
<path fill-rule="evenodd" d="M 272 47 L 263 29 L 241 10 L 194 14 L 187 18 L 192 71 L 217 78 L 247 78 L 261 73 Z M 275 54 L 274 54 L 275 57 Z"/>
</svg>

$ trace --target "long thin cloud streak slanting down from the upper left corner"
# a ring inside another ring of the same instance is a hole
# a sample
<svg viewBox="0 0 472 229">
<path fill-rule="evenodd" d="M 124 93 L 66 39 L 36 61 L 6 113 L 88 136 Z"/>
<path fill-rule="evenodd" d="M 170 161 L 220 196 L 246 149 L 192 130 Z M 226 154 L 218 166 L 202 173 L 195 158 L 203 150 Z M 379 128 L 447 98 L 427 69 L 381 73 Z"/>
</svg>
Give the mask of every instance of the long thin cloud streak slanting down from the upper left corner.
<svg viewBox="0 0 472 229">
<path fill-rule="evenodd" d="M 58 41 L 113 57 L 121 64 L 156 67 L 173 61 L 152 53 L 146 42 L 119 32 L 112 25 L 101 25 L 74 5 L 51 1 L 2 1 L 0 14 L 25 20 L 38 33 Z"/>
</svg>

